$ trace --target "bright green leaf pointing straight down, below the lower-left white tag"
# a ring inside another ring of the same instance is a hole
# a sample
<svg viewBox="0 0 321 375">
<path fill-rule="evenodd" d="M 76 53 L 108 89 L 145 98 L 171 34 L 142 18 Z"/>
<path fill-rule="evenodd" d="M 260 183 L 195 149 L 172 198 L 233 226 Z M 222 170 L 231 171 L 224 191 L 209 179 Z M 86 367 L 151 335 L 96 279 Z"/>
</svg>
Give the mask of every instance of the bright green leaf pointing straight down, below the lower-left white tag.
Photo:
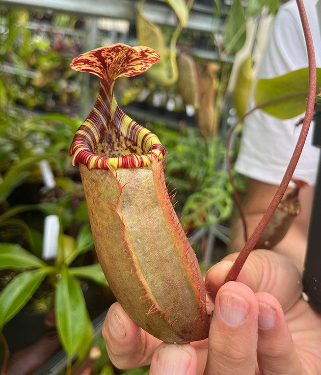
<svg viewBox="0 0 321 375">
<path fill-rule="evenodd" d="M 68 270 L 63 270 L 56 289 L 57 328 L 63 347 L 72 356 L 82 342 L 87 310 L 82 289 Z"/>
</svg>

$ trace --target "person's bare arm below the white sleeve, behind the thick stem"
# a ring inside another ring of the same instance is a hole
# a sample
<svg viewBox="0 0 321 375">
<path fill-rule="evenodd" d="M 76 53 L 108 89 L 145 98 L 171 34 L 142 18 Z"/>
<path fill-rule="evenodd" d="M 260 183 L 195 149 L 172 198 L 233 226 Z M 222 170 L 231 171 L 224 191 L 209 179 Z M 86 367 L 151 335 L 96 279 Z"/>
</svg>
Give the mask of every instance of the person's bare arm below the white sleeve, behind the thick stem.
<svg viewBox="0 0 321 375">
<path fill-rule="evenodd" d="M 249 187 L 244 202 L 244 213 L 247 222 L 248 236 L 255 230 L 264 211 L 269 206 L 275 192 L 276 185 L 249 180 Z M 289 231 L 272 250 L 288 256 L 297 269 L 302 273 L 304 256 L 307 245 L 310 212 L 313 199 L 313 187 L 305 186 L 300 189 L 300 213 L 293 221 Z M 231 230 L 229 252 L 241 251 L 244 246 L 243 226 L 238 217 Z"/>
</svg>

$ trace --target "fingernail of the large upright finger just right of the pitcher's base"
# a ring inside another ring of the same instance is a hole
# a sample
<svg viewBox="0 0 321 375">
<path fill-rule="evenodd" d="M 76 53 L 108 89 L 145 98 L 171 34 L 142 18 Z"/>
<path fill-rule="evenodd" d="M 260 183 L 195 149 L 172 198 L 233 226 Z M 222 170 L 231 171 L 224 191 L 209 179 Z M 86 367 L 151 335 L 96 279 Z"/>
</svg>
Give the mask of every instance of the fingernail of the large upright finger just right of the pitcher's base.
<svg viewBox="0 0 321 375">
<path fill-rule="evenodd" d="M 237 325 L 248 316 L 250 305 L 238 294 L 225 291 L 220 295 L 219 310 L 225 323 Z"/>
</svg>

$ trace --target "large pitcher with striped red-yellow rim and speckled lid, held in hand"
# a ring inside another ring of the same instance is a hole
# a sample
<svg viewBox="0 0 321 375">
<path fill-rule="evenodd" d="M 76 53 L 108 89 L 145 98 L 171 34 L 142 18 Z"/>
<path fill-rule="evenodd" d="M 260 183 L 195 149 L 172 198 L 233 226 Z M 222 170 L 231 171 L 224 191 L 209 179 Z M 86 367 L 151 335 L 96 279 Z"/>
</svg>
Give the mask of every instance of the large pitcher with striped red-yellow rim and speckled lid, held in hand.
<svg viewBox="0 0 321 375">
<path fill-rule="evenodd" d="M 208 334 L 203 277 L 167 192 L 164 147 L 113 94 L 117 77 L 140 74 L 158 59 L 151 48 L 113 44 L 72 61 L 73 69 L 101 82 L 70 154 L 79 163 L 95 248 L 116 298 L 155 337 L 184 343 Z"/>
</svg>

